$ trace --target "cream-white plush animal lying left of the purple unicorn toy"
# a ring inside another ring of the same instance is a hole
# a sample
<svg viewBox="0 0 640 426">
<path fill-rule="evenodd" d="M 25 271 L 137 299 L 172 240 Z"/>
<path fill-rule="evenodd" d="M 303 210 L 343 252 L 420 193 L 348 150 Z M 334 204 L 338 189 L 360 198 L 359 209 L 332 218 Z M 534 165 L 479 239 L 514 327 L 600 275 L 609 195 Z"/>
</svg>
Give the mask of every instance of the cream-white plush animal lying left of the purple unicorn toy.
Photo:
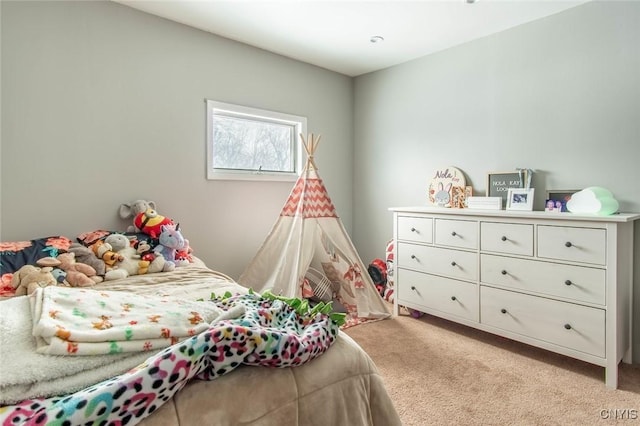
<svg viewBox="0 0 640 426">
<path fill-rule="evenodd" d="M 131 275 L 142 275 L 147 273 L 161 272 L 165 270 L 165 259 L 157 256 L 152 261 L 143 260 L 131 247 L 130 240 L 122 234 L 111 234 L 104 240 L 105 245 L 110 246 L 121 257 L 121 260 L 113 265 L 113 269 L 105 274 L 106 280 L 116 280 L 126 278 Z"/>
</svg>

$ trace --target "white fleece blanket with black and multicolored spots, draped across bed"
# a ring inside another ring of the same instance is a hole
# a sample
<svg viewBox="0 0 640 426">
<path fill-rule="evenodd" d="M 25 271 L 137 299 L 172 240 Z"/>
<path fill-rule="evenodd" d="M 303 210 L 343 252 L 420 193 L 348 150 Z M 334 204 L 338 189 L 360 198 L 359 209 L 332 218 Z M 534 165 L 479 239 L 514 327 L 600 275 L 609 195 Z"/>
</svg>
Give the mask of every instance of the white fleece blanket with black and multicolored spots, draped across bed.
<svg viewBox="0 0 640 426">
<path fill-rule="evenodd" d="M 135 424 L 153 413 L 193 378 L 213 380 L 241 364 L 293 367 L 324 353 L 338 325 L 323 313 L 299 314 L 281 300 L 254 293 L 214 300 L 237 319 L 171 346 L 135 369 L 65 397 L 26 400 L 0 408 L 3 425 Z"/>
</svg>

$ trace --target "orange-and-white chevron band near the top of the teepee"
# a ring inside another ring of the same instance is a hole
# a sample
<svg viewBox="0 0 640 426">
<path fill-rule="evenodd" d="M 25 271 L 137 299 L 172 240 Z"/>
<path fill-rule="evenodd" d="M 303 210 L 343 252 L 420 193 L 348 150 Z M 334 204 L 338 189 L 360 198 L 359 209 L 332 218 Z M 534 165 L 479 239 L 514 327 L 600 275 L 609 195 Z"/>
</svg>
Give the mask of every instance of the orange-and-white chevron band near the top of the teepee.
<svg viewBox="0 0 640 426">
<path fill-rule="evenodd" d="M 327 189 L 318 178 L 300 178 L 291 190 L 280 216 L 338 217 Z"/>
</svg>

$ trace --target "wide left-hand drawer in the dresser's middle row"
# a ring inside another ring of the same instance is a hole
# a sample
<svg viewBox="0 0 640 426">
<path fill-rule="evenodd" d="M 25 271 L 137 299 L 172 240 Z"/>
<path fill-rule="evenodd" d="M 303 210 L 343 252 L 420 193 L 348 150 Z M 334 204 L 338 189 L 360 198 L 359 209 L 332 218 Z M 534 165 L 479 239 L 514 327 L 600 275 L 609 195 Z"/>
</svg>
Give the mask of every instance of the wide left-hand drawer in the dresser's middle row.
<svg viewBox="0 0 640 426">
<path fill-rule="evenodd" d="M 398 243 L 397 264 L 451 278 L 478 279 L 478 255 L 474 252 Z"/>
</svg>

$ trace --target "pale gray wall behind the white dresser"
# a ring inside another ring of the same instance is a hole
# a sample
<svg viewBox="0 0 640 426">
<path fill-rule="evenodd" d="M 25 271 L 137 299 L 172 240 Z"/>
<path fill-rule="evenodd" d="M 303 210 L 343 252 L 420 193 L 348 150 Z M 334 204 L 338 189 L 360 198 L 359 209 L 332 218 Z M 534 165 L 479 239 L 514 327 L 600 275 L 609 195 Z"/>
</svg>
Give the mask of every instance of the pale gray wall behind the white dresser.
<svg viewBox="0 0 640 426">
<path fill-rule="evenodd" d="M 546 189 L 610 189 L 640 211 L 640 3 L 594 2 L 355 79 L 354 241 L 384 255 L 390 206 L 427 204 L 455 166 L 476 193 L 488 171 L 535 170 Z M 635 359 L 640 359 L 640 225 Z"/>
</svg>

